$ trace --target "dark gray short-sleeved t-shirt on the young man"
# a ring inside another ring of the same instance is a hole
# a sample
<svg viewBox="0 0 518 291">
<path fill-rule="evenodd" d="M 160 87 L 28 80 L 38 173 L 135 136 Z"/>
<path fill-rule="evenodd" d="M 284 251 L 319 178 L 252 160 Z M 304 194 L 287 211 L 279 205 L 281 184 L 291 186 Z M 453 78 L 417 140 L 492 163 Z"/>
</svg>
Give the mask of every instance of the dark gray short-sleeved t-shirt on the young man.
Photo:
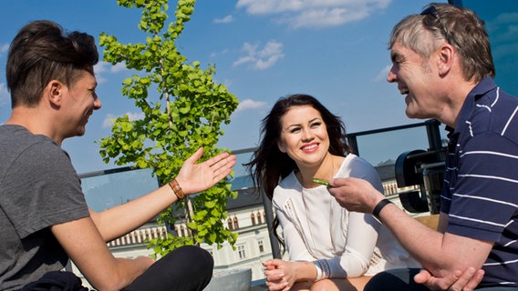
<svg viewBox="0 0 518 291">
<path fill-rule="evenodd" d="M 16 290 L 67 264 L 49 226 L 89 214 L 70 157 L 53 140 L 1 125 L 0 153 L 0 290 Z"/>
</svg>

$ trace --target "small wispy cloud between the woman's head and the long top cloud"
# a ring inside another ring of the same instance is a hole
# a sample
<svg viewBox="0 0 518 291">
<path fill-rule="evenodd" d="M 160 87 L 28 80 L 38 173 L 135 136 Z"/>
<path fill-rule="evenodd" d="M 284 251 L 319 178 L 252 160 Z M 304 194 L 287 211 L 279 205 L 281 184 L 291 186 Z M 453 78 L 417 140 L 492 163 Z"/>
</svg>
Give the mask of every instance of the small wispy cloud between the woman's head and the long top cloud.
<svg viewBox="0 0 518 291">
<path fill-rule="evenodd" d="M 283 44 L 275 41 L 269 41 L 264 45 L 263 49 L 259 49 L 259 45 L 244 43 L 243 51 L 245 51 L 247 55 L 233 62 L 234 66 L 250 63 L 256 70 L 264 70 L 275 65 L 279 59 L 285 56 L 283 53 Z"/>
</svg>

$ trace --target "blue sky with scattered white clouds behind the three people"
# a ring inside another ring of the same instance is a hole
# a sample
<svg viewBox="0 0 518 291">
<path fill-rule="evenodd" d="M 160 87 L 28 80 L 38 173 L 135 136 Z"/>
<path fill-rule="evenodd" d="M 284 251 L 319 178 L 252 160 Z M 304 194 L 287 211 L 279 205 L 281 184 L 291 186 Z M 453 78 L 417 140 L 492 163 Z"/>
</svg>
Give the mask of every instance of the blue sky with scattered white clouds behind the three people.
<svg viewBox="0 0 518 291">
<path fill-rule="evenodd" d="M 438 1 L 446 2 L 446 1 Z M 259 125 L 275 100 L 284 95 L 316 96 L 342 116 L 348 132 L 417 123 L 404 114 L 403 96 L 385 80 L 390 66 L 387 42 L 402 17 L 420 13 L 421 0 L 199 0 L 177 45 L 189 61 L 215 64 L 215 80 L 240 100 L 219 146 L 256 146 Z M 170 16 L 176 1 L 170 2 Z M 0 11 L 0 66 L 18 29 L 49 19 L 67 30 L 116 35 L 120 42 L 143 42 L 140 10 L 119 7 L 115 0 L 16 0 Z M 102 55 L 102 47 L 99 52 Z M 90 117 L 87 134 L 64 142 L 78 173 L 116 167 L 106 165 L 94 142 L 109 135 L 109 119 L 139 116 L 120 94 L 121 82 L 133 74 L 123 66 L 96 66 L 102 108 Z M 5 73 L 0 75 L 0 123 L 10 114 Z M 386 147 L 379 145 L 380 147 Z M 376 164 L 387 159 L 383 151 Z M 396 156 L 391 156 L 395 158 Z"/>
</svg>

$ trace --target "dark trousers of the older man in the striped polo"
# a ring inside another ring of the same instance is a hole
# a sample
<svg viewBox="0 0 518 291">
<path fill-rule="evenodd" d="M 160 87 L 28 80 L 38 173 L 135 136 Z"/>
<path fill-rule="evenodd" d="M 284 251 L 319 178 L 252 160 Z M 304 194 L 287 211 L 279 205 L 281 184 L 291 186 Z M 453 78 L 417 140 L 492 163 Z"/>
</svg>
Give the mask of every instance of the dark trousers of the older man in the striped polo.
<svg viewBox="0 0 518 291">
<path fill-rule="evenodd" d="M 390 291 L 427 291 L 427 287 L 414 282 L 414 276 L 420 272 L 419 268 L 394 269 L 378 273 L 368 280 L 364 291 L 390 290 Z M 518 287 L 479 287 L 480 291 L 511 291 Z"/>
</svg>

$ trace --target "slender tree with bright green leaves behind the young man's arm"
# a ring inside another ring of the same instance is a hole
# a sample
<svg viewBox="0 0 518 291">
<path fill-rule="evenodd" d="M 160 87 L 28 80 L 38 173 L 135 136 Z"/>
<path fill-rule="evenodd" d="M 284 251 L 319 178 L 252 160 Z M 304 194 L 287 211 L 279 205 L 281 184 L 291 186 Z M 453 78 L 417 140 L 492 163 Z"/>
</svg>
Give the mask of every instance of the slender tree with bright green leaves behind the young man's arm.
<svg viewBox="0 0 518 291">
<path fill-rule="evenodd" d="M 221 153 L 217 148 L 221 125 L 230 123 L 238 105 L 237 98 L 224 85 L 216 84 L 214 65 L 202 70 L 200 62 L 187 63 L 175 41 L 191 19 L 195 0 L 179 0 L 176 20 L 166 25 L 168 0 L 118 0 L 120 6 L 142 10 L 139 29 L 148 36 L 142 44 L 120 44 L 117 37 L 101 33 L 99 44 L 105 47 L 104 61 L 123 63 L 141 75 L 123 81 L 122 95 L 133 99 L 143 118 L 129 120 L 128 115 L 113 120 L 111 134 L 99 141 L 100 155 L 108 163 L 150 167 L 161 183 L 167 183 L 183 161 L 203 147 L 202 159 Z M 150 93 L 150 90 L 156 93 Z M 155 254 L 167 254 L 178 246 L 202 242 L 221 247 L 235 244 L 237 235 L 225 227 L 226 201 L 237 196 L 225 179 L 202 194 L 189 196 L 171 206 L 159 217 L 159 223 L 173 226 L 185 219 L 191 236 L 153 239 L 149 247 Z M 181 213 L 179 216 L 177 214 Z"/>
</svg>

